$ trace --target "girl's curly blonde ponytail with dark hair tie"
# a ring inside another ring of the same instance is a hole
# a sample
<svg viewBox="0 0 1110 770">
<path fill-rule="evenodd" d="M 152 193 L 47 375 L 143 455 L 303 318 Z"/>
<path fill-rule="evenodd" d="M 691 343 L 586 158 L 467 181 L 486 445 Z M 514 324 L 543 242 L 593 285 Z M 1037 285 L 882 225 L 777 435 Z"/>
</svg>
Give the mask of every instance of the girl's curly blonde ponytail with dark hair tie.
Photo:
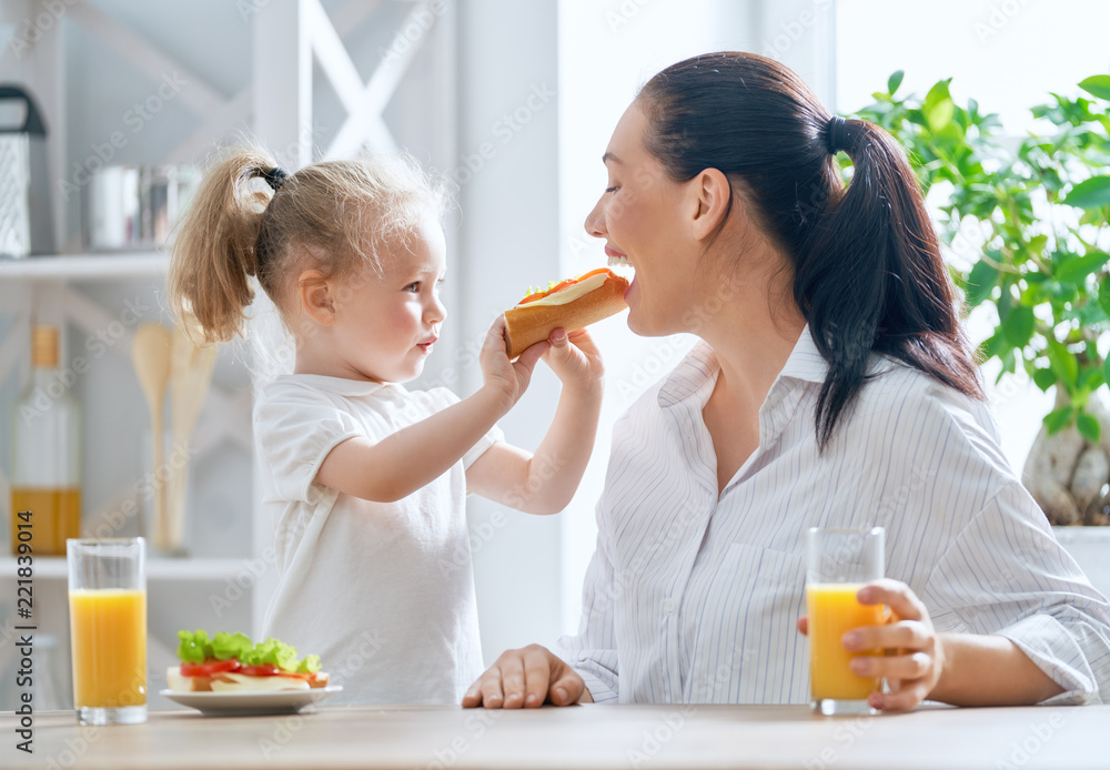
<svg viewBox="0 0 1110 770">
<path fill-rule="evenodd" d="M 181 222 L 170 261 L 170 308 L 204 342 L 226 342 L 243 327 L 254 298 L 262 214 L 273 197 L 268 174 L 275 166 L 261 150 L 225 154 L 206 171 Z M 256 178 L 270 188 L 252 182 Z"/>
</svg>

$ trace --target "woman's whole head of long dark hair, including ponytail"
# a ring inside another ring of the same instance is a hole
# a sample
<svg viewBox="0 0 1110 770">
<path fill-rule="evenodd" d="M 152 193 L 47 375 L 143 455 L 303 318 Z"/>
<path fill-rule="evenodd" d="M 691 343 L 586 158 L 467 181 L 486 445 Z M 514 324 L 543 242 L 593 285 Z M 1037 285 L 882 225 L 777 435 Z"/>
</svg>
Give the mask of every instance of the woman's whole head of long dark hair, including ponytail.
<svg viewBox="0 0 1110 770">
<path fill-rule="evenodd" d="M 754 220 L 793 260 L 794 298 L 829 366 L 816 414 L 823 448 L 872 352 L 983 398 L 921 191 L 889 134 L 834 120 L 798 75 L 753 53 L 673 64 L 637 100 L 647 150 L 670 179 L 717 169 L 739 181 L 731 197 L 744 190 Z M 837 151 L 852 162 L 847 190 Z"/>
</svg>

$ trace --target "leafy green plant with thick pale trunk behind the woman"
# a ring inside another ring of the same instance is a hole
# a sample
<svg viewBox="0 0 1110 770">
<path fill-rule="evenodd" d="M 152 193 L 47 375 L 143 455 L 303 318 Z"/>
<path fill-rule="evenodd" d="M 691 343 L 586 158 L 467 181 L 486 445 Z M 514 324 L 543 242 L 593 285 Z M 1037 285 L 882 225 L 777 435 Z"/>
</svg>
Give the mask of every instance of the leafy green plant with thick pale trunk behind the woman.
<svg viewBox="0 0 1110 770">
<path fill-rule="evenodd" d="M 969 308 L 996 311 L 982 361 L 1054 388 L 1022 482 L 1054 525 L 1110 524 L 1110 74 L 1033 107 L 1023 138 L 956 104 L 950 80 L 925 98 L 899 94 L 901 80 L 851 116 L 906 146 Z"/>
</svg>

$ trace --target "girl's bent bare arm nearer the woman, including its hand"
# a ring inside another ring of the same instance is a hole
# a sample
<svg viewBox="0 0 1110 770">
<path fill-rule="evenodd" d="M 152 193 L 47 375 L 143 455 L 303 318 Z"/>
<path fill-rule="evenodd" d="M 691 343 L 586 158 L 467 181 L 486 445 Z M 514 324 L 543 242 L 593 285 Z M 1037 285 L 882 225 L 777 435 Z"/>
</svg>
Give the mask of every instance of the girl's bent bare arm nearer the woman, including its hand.
<svg viewBox="0 0 1110 770">
<path fill-rule="evenodd" d="M 541 515 L 557 514 L 574 497 L 594 448 L 604 389 L 602 359 L 585 331 L 555 330 L 549 345 L 544 359 L 563 381 L 563 393 L 535 455 L 497 443 L 466 470 L 467 492 Z"/>
</svg>

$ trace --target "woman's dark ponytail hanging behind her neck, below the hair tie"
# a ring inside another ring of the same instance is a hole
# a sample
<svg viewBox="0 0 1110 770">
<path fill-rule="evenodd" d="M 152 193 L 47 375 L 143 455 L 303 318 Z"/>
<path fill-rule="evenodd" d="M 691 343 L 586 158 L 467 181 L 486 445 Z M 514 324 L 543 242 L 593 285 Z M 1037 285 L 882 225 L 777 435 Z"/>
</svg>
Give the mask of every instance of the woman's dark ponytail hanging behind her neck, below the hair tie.
<svg viewBox="0 0 1110 770">
<path fill-rule="evenodd" d="M 844 151 L 851 182 L 834 185 L 795 265 L 794 296 L 829 364 L 817 403 L 821 445 L 862 386 L 871 353 L 981 397 L 957 315 L 956 290 L 901 146 L 861 120 L 826 123 L 830 162 Z"/>
</svg>

